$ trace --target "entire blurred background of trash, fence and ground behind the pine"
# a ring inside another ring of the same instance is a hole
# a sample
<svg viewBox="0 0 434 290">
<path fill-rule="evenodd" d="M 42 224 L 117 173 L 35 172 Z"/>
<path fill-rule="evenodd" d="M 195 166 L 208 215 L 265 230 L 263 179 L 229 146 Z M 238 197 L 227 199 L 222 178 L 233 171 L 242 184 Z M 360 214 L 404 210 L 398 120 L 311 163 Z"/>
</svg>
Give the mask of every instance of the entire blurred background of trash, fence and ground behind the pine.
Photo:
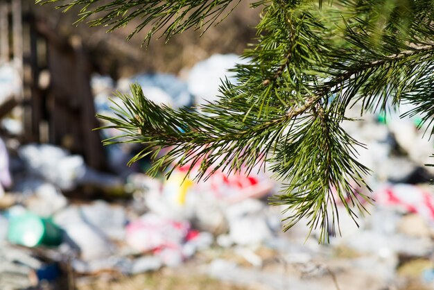
<svg viewBox="0 0 434 290">
<path fill-rule="evenodd" d="M 356 223 L 337 205 L 325 245 L 307 220 L 282 231 L 290 213 L 268 205 L 281 185 L 267 172 L 151 179 L 149 160 L 126 165 L 140 146 L 102 146 L 119 132 L 92 130 L 107 125 L 95 114 L 132 83 L 173 108 L 215 101 L 259 13 L 242 2 L 202 36 L 144 48 L 130 27 L 0 1 L 0 289 L 434 289 L 433 142 L 405 106 L 344 124 L 367 146 L 374 203 Z"/>
</svg>

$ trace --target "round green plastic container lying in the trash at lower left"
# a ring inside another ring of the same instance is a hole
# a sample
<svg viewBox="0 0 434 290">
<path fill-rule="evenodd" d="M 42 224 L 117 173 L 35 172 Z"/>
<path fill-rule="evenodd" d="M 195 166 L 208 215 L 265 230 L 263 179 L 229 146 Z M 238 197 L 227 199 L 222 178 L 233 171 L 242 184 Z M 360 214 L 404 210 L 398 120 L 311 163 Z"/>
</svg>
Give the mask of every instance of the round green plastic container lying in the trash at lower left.
<svg viewBox="0 0 434 290">
<path fill-rule="evenodd" d="M 50 219 L 26 212 L 10 217 L 8 240 L 26 247 L 59 246 L 62 243 L 62 230 Z"/>
</svg>

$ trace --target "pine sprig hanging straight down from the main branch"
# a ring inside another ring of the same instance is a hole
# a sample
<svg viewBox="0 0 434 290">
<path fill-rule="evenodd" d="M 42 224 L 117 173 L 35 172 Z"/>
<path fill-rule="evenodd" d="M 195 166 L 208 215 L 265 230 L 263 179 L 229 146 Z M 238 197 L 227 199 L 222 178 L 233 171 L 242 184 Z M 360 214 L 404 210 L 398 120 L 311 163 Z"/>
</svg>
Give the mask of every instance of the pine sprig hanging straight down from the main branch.
<svg viewBox="0 0 434 290">
<path fill-rule="evenodd" d="M 284 230 L 308 217 L 311 230 L 320 228 L 320 241 L 328 241 L 329 231 L 335 234 L 339 221 L 336 198 L 353 219 L 357 215 L 348 203 L 362 213 L 365 211 L 359 198 L 367 201 L 369 198 L 358 188 L 366 186 L 363 176 L 368 169 L 351 153 L 354 146 L 361 144 L 349 137 L 338 122 L 330 112 L 320 108 L 298 129 L 297 140 L 288 140 L 279 146 L 272 171 L 290 183 L 279 196 L 272 198 L 272 203 L 288 205 L 286 212 L 290 216 L 286 218 Z M 342 170 L 342 164 L 346 164 L 345 170 Z"/>
</svg>

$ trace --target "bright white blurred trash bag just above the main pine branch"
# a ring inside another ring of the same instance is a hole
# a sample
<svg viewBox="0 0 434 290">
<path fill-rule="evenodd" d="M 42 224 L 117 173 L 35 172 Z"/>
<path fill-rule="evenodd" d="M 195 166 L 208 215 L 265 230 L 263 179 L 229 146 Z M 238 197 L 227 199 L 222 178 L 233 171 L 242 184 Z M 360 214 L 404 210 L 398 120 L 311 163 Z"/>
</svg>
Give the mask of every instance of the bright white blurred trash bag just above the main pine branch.
<svg viewBox="0 0 434 290">
<path fill-rule="evenodd" d="M 189 92 L 195 97 L 195 103 L 202 105 L 217 101 L 222 80 L 227 78 L 230 83 L 236 83 L 235 73 L 230 72 L 229 69 L 247 62 L 248 60 L 235 54 L 215 54 L 207 60 L 198 62 L 191 68 L 187 79 Z"/>
</svg>

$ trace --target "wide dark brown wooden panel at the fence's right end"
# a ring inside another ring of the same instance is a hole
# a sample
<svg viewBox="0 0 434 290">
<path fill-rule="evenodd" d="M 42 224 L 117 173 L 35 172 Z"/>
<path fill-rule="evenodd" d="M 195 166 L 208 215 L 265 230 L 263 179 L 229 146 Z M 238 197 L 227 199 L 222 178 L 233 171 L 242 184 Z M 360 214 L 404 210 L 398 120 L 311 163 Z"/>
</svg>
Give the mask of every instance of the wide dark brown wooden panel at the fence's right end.
<svg viewBox="0 0 434 290">
<path fill-rule="evenodd" d="M 85 157 L 89 167 L 104 170 L 106 158 L 95 117 L 90 87 L 89 58 L 79 37 L 65 37 L 44 21 L 36 29 L 46 39 L 51 75 L 49 101 L 50 142 Z"/>
</svg>

